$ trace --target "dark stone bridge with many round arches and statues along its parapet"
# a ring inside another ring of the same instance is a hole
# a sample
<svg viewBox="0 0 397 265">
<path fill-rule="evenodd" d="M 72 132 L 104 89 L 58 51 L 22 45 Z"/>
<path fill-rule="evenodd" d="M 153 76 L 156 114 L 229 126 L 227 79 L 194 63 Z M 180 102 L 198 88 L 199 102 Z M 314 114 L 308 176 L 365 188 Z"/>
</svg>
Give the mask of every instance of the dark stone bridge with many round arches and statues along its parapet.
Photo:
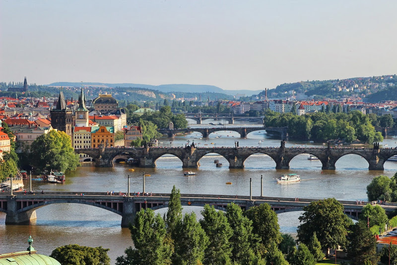
<svg viewBox="0 0 397 265">
<path fill-rule="evenodd" d="M 334 170 L 336 161 L 344 155 L 356 154 L 369 164 L 369 170 L 384 170 L 384 163 L 397 149 L 392 148 L 278 148 L 278 147 L 151 147 L 151 148 L 87 148 L 75 149 L 76 153 L 87 154 L 95 160 L 96 167 L 112 167 L 113 159 L 118 155 L 128 155 L 137 161 L 138 167 L 153 168 L 156 160 L 165 154 L 175 155 L 182 161 L 183 168 L 198 168 L 199 160 L 206 154 L 215 153 L 229 162 L 229 168 L 242 169 L 244 161 L 253 154 L 265 154 L 276 163 L 276 169 L 289 169 L 289 162 L 299 154 L 317 156 L 323 170 Z"/>
</svg>

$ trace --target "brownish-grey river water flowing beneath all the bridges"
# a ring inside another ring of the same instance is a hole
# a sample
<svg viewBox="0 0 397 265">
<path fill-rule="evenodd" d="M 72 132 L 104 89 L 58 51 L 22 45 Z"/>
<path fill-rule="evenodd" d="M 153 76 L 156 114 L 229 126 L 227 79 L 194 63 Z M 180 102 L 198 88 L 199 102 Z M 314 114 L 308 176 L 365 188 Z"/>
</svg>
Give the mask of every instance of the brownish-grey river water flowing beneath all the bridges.
<svg viewBox="0 0 397 265">
<path fill-rule="evenodd" d="M 211 121 L 206 121 L 211 122 Z M 213 123 L 218 124 L 218 122 Z M 205 125 L 201 125 L 205 126 Z M 208 126 L 208 125 L 206 125 Z M 242 125 L 235 125 L 242 126 Z M 256 126 L 256 125 L 244 125 Z M 195 126 L 192 126 L 195 127 Z M 197 125 L 197 127 L 199 127 Z M 212 126 L 215 127 L 215 126 Z M 227 130 L 227 129 L 226 129 Z M 233 147 L 235 141 L 239 146 L 279 146 L 280 139 L 267 135 L 265 131 L 249 133 L 247 139 L 240 138 L 235 132 L 224 131 L 210 134 L 208 139 L 201 138 L 200 133 L 177 136 L 174 139 L 159 139 L 163 146 L 184 146 L 192 141 L 198 146 Z M 207 140 L 207 141 L 205 141 Z M 396 147 L 393 136 L 381 144 L 385 147 Z M 323 146 L 322 143 L 287 141 L 289 146 Z M 264 178 L 264 196 L 289 198 L 324 199 L 334 197 L 342 200 L 366 200 L 366 186 L 378 175 L 393 176 L 397 171 L 397 162 L 387 161 L 385 171 L 369 171 L 368 163 L 358 155 L 345 155 L 336 162 L 336 170 L 322 171 L 321 162 L 308 160 L 309 155 L 296 156 L 290 162 L 290 170 L 276 170 L 275 163 L 269 156 L 256 154 L 245 161 L 245 169 L 229 169 L 228 162 L 217 154 L 208 154 L 200 160 L 197 176 L 183 176 L 182 162 L 174 156 L 163 156 L 156 161 L 156 168 L 129 171 L 128 165 L 116 164 L 113 168 L 95 168 L 91 163 L 83 163 L 74 172 L 66 174 L 65 184 L 33 182 L 35 191 L 73 191 L 73 192 L 125 192 L 128 174 L 131 176 L 131 190 L 141 191 L 142 172 L 146 177 L 146 191 L 153 193 L 170 193 L 173 185 L 181 193 L 191 194 L 225 194 L 249 195 L 250 178 L 253 181 L 253 195 L 260 196 L 261 175 Z M 215 167 L 214 159 L 223 163 Z M 301 175 L 300 183 L 276 184 L 275 179 L 282 173 Z M 232 182 L 232 185 L 226 185 Z M 28 183 L 25 184 L 28 188 Z M 194 210 L 199 213 L 200 207 L 184 208 L 185 212 Z M 157 210 L 163 214 L 166 209 Z M 67 244 L 85 246 L 103 246 L 109 248 L 112 264 L 116 257 L 132 245 L 128 228 L 121 228 L 121 216 L 110 211 L 83 204 L 51 204 L 36 210 L 37 219 L 31 226 L 4 225 L 5 214 L 0 213 L 0 254 L 21 251 L 28 247 L 30 233 L 34 239 L 33 246 L 40 254 L 50 255 L 52 250 Z M 300 212 L 289 212 L 278 215 L 281 232 L 296 233 Z"/>
</svg>

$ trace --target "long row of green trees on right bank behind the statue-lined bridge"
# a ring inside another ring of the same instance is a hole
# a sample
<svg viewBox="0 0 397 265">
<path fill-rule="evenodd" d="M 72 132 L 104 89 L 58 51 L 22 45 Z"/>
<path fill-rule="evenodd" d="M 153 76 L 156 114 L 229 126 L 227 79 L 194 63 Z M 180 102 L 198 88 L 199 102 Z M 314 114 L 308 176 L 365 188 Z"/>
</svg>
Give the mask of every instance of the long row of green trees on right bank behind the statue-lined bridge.
<svg viewBox="0 0 397 265">
<path fill-rule="evenodd" d="M 266 127 L 288 127 L 290 137 L 327 141 L 344 139 L 352 142 L 356 139 L 364 143 L 383 141 L 382 133 L 376 132 L 368 115 L 359 111 L 346 113 L 317 112 L 296 116 L 292 113 L 267 111 Z"/>
</svg>

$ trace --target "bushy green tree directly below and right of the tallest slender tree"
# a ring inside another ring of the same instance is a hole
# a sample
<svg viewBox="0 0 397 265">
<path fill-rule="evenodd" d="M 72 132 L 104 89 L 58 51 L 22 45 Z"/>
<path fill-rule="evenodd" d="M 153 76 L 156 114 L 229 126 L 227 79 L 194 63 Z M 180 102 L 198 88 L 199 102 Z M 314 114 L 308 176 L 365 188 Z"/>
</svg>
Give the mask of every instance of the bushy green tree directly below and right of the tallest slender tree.
<svg viewBox="0 0 397 265">
<path fill-rule="evenodd" d="M 208 237 L 197 221 L 196 213 L 185 214 L 177 230 L 175 257 L 177 265 L 197 265 L 204 258 Z"/>
</svg>

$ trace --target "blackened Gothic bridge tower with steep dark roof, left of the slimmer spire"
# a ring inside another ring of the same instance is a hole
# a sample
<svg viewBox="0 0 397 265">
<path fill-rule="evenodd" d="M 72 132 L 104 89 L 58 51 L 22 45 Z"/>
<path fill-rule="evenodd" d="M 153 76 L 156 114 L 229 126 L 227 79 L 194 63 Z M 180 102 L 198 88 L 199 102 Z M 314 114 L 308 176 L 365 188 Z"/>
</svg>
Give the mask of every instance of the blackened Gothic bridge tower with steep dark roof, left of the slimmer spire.
<svg viewBox="0 0 397 265">
<path fill-rule="evenodd" d="M 71 137 L 72 110 L 66 109 L 64 93 L 60 91 L 57 107 L 51 112 L 51 126 L 53 129 L 65 132 Z"/>
</svg>

